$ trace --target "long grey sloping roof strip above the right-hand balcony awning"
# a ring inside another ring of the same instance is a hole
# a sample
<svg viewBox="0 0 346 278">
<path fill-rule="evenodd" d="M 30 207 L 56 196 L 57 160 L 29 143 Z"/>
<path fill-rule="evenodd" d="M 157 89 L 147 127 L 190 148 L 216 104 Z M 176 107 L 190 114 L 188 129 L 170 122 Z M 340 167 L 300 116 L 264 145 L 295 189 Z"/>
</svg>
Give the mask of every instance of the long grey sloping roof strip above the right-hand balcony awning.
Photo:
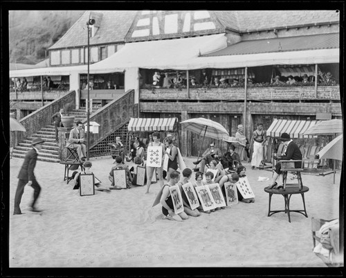
<svg viewBox="0 0 346 278">
<path fill-rule="evenodd" d="M 225 55 L 242 55 L 242 54 L 257 54 L 268 52 L 285 52 L 298 50 L 318 50 L 339 48 L 340 34 L 313 34 L 309 36 L 297 37 L 280 37 L 275 39 L 255 39 L 253 41 L 239 41 L 227 48 L 216 52 L 203 55 L 210 56 L 225 56 Z"/>
</svg>

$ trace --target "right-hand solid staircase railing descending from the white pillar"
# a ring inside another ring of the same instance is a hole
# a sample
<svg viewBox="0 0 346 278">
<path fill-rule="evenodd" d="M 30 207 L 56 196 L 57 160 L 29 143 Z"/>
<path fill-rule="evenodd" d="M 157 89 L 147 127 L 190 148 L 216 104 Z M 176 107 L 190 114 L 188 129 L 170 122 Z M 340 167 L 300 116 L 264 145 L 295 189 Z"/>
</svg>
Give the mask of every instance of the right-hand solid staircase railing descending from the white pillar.
<svg viewBox="0 0 346 278">
<path fill-rule="evenodd" d="M 89 117 L 89 121 L 95 121 L 100 126 L 98 133 L 90 134 L 89 150 L 96 146 L 107 136 L 121 128 L 129 121 L 130 117 L 137 117 L 138 104 L 134 104 L 134 90 L 125 92 L 120 99 L 114 99 L 106 106 L 100 108 Z M 86 121 L 83 121 L 85 124 Z"/>
</svg>

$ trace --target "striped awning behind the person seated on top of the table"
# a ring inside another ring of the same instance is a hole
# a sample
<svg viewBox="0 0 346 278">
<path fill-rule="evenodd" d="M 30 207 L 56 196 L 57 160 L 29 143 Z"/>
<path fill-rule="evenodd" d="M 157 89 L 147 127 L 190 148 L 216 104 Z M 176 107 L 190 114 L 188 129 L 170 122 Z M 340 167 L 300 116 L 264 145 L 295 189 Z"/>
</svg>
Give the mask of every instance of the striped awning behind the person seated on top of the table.
<svg viewBox="0 0 346 278">
<path fill-rule="evenodd" d="M 308 138 L 304 135 L 311 126 L 315 126 L 318 121 L 300 121 L 300 120 L 285 120 L 274 119 L 271 126 L 266 130 L 266 135 L 270 137 L 280 137 L 283 132 L 289 134 L 291 138 Z"/>
</svg>

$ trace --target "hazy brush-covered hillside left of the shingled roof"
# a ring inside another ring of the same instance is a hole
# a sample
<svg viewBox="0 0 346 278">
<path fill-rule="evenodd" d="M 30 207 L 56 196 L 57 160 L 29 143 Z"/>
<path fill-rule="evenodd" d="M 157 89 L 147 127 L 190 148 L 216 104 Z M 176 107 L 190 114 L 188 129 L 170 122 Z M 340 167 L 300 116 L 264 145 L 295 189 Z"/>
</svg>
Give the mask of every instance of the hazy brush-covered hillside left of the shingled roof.
<svg viewBox="0 0 346 278">
<path fill-rule="evenodd" d="M 35 64 L 84 13 L 82 10 L 12 10 L 9 12 L 10 63 Z"/>
</svg>

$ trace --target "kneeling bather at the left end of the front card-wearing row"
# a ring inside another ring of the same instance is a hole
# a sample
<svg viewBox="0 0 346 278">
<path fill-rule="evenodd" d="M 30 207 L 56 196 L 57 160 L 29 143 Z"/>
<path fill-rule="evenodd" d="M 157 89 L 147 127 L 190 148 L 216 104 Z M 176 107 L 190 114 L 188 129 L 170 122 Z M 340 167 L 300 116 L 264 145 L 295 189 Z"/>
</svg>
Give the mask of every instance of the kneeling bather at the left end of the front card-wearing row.
<svg viewBox="0 0 346 278">
<path fill-rule="evenodd" d="M 179 172 L 171 172 L 170 181 L 163 186 L 160 202 L 162 204 L 162 213 L 167 219 L 183 221 L 189 217 L 185 212 L 181 212 L 178 215 L 174 213 L 172 195 L 170 194 L 170 186 L 176 185 L 179 182 L 179 177 Z"/>
</svg>

